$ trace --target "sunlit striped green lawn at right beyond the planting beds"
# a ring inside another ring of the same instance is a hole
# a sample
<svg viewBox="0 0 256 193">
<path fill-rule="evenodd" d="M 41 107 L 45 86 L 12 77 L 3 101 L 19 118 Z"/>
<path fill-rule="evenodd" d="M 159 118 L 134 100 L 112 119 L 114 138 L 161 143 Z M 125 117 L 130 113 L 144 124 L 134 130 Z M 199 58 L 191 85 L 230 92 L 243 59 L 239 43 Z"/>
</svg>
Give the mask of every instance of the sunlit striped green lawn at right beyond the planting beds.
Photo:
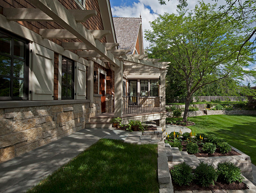
<svg viewBox="0 0 256 193">
<path fill-rule="evenodd" d="M 205 115 L 188 117 L 196 125 L 189 128 L 196 133 L 215 134 L 251 157 L 256 164 L 255 115 Z"/>
</svg>

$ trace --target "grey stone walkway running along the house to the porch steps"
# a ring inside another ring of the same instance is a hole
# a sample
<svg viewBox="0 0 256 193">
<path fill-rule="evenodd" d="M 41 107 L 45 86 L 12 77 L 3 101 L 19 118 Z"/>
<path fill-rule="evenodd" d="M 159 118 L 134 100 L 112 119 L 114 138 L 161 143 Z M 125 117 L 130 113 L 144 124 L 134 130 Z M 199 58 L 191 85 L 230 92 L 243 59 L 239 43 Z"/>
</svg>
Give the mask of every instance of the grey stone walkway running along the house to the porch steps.
<svg viewBox="0 0 256 193">
<path fill-rule="evenodd" d="M 157 143 L 157 137 L 141 136 L 142 132 L 110 129 L 82 129 L 69 136 L 41 146 L 22 156 L 0 164 L 0 193 L 21 193 L 39 183 L 63 164 L 96 143 L 100 138 L 130 143 Z"/>
</svg>

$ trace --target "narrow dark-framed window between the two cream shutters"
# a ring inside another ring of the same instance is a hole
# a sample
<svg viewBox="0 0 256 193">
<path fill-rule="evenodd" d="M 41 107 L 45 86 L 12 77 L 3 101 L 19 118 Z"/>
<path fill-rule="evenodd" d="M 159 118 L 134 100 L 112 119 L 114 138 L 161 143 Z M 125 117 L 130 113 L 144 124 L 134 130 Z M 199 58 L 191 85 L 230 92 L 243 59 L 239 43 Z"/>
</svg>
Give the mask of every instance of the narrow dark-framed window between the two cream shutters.
<svg viewBox="0 0 256 193">
<path fill-rule="evenodd" d="M 74 62 L 62 57 L 61 99 L 74 99 Z"/>
</svg>

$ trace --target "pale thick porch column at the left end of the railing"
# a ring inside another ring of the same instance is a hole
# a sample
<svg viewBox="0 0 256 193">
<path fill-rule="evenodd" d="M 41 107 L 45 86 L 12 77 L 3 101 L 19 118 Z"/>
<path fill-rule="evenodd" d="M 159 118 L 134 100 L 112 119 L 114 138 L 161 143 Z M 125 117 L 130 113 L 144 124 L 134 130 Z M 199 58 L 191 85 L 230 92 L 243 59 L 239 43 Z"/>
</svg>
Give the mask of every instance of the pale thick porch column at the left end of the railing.
<svg viewBox="0 0 256 193">
<path fill-rule="evenodd" d="M 123 115 L 123 62 L 120 66 L 115 65 L 115 117 Z"/>
</svg>

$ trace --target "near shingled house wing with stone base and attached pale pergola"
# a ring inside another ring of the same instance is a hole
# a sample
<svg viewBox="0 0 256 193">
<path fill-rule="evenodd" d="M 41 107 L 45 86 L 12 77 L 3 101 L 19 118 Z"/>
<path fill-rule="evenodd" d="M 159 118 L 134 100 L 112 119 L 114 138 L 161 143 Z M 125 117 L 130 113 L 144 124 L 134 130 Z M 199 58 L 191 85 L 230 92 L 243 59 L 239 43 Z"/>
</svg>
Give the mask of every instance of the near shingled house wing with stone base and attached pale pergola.
<svg viewBox="0 0 256 193">
<path fill-rule="evenodd" d="M 109 0 L 0 0 L 0 45 L 0 162 L 123 117 L 126 65 L 157 66 L 165 83 L 167 64 L 118 49 Z"/>
</svg>

